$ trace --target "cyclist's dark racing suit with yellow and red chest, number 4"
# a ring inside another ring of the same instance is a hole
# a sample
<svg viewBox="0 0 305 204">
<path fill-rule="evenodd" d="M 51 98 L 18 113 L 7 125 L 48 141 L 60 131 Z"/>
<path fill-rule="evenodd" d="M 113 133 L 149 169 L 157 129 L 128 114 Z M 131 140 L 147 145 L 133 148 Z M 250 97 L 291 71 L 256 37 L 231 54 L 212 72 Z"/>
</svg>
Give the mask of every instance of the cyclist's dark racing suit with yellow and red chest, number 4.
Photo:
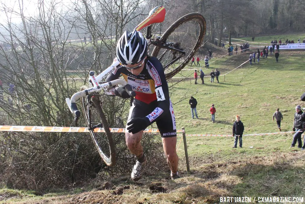
<svg viewBox="0 0 305 204">
<path fill-rule="evenodd" d="M 115 80 L 121 74 L 131 85 L 133 91 L 136 92 L 128 118 L 147 117 L 151 124 L 157 121 L 162 137 L 176 136 L 174 110 L 170 102 L 167 81 L 160 61 L 156 57 L 148 57 L 145 60 L 144 69 L 139 75 L 132 74 L 121 65 L 117 66 L 107 76 L 106 81 Z M 147 115 L 143 115 L 144 113 Z M 168 121 L 170 121 L 170 125 Z M 169 125 L 170 129 L 164 127 L 164 124 Z"/>
</svg>

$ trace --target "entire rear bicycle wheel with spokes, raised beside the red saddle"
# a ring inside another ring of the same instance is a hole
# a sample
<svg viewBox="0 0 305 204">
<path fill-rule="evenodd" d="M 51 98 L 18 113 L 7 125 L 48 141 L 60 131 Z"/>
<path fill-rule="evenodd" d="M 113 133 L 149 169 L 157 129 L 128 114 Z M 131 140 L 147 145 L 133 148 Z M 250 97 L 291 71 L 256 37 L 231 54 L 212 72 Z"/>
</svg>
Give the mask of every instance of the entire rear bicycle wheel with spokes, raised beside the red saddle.
<svg viewBox="0 0 305 204">
<path fill-rule="evenodd" d="M 204 17 L 200 13 L 189 13 L 174 22 L 156 40 L 159 43 L 151 55 L 161 61 L 166 79 L 170 79 L 187 65 L 199 49 L 205 32 Z"/>
</svg>

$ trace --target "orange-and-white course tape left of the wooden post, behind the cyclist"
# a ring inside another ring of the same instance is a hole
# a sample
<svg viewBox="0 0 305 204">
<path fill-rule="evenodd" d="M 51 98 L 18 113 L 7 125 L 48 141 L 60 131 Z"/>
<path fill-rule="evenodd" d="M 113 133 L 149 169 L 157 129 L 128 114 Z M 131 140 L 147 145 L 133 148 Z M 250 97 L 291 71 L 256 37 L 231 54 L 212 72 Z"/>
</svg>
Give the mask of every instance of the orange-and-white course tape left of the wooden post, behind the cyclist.
<svg viewBox="0 0 305 204">
<path fill-rule="evenodd" d="M 109 128 L 110 132 L 125 132 L 125 128 Z M 13 126 L 0 125 L 0 131 L 10 132 L 89 132 L 84 127 L 45 127 L 45 126 Z M 95 132 L 105 132 L 104 128 L 95 128 Z M 144 132 L 159 132 L 158 129 L 145 129 Z M 184 132 L 177 130 L 177 132 Z"/>
</svg>

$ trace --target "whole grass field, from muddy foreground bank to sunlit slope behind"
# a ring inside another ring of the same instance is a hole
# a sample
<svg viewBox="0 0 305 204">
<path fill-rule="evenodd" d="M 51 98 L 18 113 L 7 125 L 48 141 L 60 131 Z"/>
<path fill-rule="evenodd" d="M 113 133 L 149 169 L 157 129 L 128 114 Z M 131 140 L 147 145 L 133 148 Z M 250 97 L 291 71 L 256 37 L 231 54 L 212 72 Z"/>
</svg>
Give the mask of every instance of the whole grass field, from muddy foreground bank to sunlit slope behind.
<svg viewBox="0 0 305 204">
<path fill-rule="evenodd" d="M 258 37 L 257 37 L 258 38 Z M 215 62 L 209 75 L 218 68 L 221 74 L 247 60 L 247 55 L 233 55 Z M 304 52 L 281 52 L 279 62 L 274 56 L 260 64 L 246 64 L 225 77 L 220 83 L 194 84 L 184 80 L 171 89 L 177 128 L 186 134 L 231 134 L 235 115 L 241 116 L 244 134 L 278 132 L 272 115 L 277 107 L 283 114 L 282 130 L 292 131 L 295 106 L 305 106 L 300 96 L 305 91 L 303 75 Z M 213 61 L 213 60 L 212 60 Z M 195 69 L 185 67 L 185 69 Z M 196 67 L 198 69 L 198 67 Z M 192 73 L 184 70 L 183 75 Z M 177 75 L 179 76 L 179 74 Z M 199 81 L 200 82 L 200 78 Z M 171 85 L 173 82 L 170 82 Z M 198 90 L 198 93 L 196 91 Z M 196 93 L 196 94 L 195 94 Z M 188 99 L 198 101 L 199 119 L 191 118 Z M 185 99 L 184 99 L 185 98 Z M 181 102 L 179 102 L 181 99 Z M 175 104 L 176 103 L 176 104 Z M 216 107 L 215 123 L 210 121 L 210 105 Z M 186 171 L 184 148 L 178 137 L 179 171 L 181 178 L 170 180 L 168 172 L 147 172 L 139 182 L 128 176 L 109 180 L 96 179 L 83 188 L 71 191 L 55 189 L 39 196 L 32 191 L 2 189 L 0 201 L 5 203 L 218 203 L 220 197 L 304 195 L 305 151 L 289 148 L 292 134 L 244 136 L 243 148 L 232 149 L 233 137 L 187 137 L 191 172 Z M 253 147 L 253 148 L 250 148 Z M 299 200 L 300 201 L 300 200 Z"/>
</svg>

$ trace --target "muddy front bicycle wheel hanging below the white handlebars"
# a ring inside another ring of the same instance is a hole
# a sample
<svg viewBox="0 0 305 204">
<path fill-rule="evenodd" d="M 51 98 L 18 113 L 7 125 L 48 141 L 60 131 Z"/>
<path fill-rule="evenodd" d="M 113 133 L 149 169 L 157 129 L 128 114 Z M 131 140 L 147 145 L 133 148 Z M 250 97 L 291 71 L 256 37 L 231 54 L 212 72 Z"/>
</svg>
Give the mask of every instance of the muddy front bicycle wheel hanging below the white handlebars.
<svg viewBox="0 0 305 204">
<path fill-rule="evenodd" d="M 87 88 L 87 86 L 81 86 L 81 91 Z M 105 164 L 107 166 L 114 166 L 116 164 L 116 151 L 113 143 L 112 133 L 110 132 L 106 116 L 100 105 L 100 96 L 98 94 L 95 94 L 93 96 L 89 96 L 89 98 L 90 100 L 92 100 L 93 104 L 89 104 L 87 97 L 82 97 L 81 108 L 83 110 L 87 126 L 89 128 L 91 139 Z M 105 133 L 95 132 L 94 130 L 90 129 L 89 120 L 98 123 L 98 119 L 102 121 Z"/>
</svg>

